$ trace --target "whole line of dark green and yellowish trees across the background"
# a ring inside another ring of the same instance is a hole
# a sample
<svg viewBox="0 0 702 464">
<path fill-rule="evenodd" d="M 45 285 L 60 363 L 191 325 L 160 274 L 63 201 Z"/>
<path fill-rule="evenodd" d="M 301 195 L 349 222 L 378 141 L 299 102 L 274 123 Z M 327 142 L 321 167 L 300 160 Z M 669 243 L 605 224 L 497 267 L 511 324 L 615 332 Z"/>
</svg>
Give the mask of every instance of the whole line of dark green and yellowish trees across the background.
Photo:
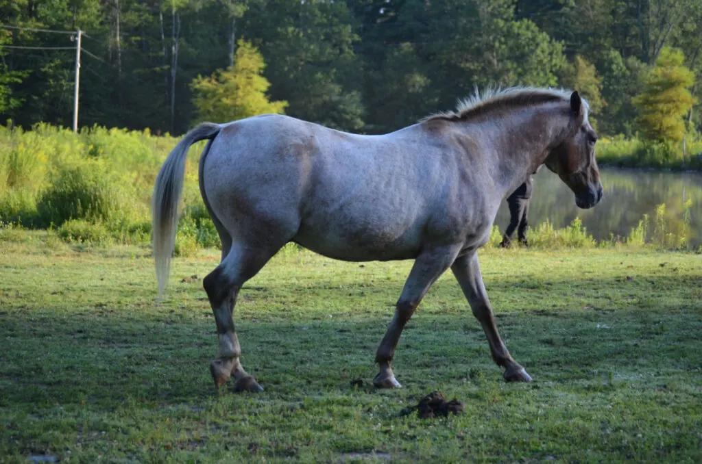
<svg viewBox="0 0 702 464">
<path fill-rule="evenodd" d="M 81 29 L 81 126 L 178 135 L 230 98 L 380 133 L 529 85 L 580 90 L 602 135 L 702 130 L 699 0 L 0 0 L 0 24 L 0 117 L 25 128 L 70 125 Z"/>
</svg>

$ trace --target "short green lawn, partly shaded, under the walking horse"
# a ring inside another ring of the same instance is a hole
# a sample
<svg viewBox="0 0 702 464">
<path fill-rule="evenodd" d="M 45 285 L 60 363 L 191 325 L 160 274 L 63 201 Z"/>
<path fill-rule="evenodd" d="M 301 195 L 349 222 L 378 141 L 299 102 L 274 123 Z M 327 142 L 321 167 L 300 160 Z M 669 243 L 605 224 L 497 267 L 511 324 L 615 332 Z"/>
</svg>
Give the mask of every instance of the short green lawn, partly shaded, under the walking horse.
<svg viewBox="0 0 702 464">
<path fill-rule="evenodd" d="M 12 233 L 9 233 L 12 232 Z M 451 273 L 402 335 L 404 388 L 376 390 L 376 347 L 410 261 L 289 247 L 247 283 L 235 322 L 265 392 L 216 390 L 201 279 L 175 259 L 162 303 L 150 250 L 0 241 L 0 462 L 702 461 L 702 256 L 486 250 L 508 384 Z M 360 378 L 361 386 L 351 382 Z M 440 390 L 448 418 L 402 409 Z"/>
</svg>

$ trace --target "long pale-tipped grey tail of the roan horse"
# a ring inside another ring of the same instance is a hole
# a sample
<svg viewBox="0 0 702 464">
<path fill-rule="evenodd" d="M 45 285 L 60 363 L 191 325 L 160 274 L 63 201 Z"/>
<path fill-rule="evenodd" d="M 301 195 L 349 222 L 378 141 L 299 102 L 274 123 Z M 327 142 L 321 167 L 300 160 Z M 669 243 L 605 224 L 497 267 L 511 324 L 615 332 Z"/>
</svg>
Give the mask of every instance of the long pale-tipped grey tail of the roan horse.
<svg viewBox="0 0 702 464">
<path fill-rule="evenodd" d="M 161 166 L 159 176 L 154 185 L 152 198 L 152 233 L 154 246 L 154 261 L 156 261 L 156 278 L 159 281 L 159 298 L 168 284 L 168 273 L 171 270 L 171 254 L 176 242 L 178 227 L 178 203 L 183 191 L 185 176 L 185 158 L 190 145 L 204 139 L 214 139 L 220 132 L 221 126 L 214 123 L 201 123 L 187 132 L 176 148 L 168 155 Z M 209 144 L 207 146 L 209 148 Z M 205 156 L 203 153 L 202 156 Z"/>
</svg>

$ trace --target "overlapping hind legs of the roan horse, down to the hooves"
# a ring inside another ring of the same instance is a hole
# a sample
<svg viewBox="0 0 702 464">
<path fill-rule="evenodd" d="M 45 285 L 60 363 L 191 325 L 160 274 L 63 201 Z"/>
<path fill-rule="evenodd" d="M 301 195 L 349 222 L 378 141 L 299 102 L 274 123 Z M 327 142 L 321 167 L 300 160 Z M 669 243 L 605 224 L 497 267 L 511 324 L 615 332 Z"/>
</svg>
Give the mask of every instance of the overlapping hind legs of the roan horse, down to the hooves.
<svg viewBox="0 0 702 464">
<path fill-rule="evenodd" d="M 241 348 L 237 339 L 232 313 L 241 285 L 252 278 L 279 247 L 249 247 L 234 243 L 219 266 L 203 281 L 217 324 L 219 350 L 210 364 L 215 385 L 222 386 L 234 376 L 234 392 L 263 390 L 253 377 L 241 367 Z"/>
</svg>

